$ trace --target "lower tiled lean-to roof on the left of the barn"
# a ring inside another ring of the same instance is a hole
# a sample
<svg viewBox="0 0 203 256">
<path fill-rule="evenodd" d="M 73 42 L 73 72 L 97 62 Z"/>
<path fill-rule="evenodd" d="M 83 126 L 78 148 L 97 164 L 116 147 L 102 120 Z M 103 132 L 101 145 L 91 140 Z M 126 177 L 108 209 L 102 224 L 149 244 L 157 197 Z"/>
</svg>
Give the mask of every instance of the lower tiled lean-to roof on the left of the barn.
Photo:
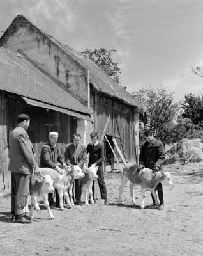
<svg viewBox="0 0 203 256">
<path fill-rule="evenodd" d="M 84 104 L 19 53 L 3 47 L 0 47 L 0 89 L 80 114 L 93 115 Z"/>
</svg>

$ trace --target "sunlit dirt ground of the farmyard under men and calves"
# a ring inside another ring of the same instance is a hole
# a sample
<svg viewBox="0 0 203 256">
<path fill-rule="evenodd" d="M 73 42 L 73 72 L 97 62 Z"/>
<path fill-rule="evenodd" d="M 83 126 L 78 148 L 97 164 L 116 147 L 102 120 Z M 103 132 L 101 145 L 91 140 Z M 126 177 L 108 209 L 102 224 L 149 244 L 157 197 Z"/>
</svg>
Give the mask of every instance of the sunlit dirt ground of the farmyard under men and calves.
<svg viewBox="0 0 203 256">
<path fill-rule="evenodd" d="M 96 184 L 95 205 L 59 211 L 54 220 L 40 201 L 31 225 L 12 223 L 10 197 L 0 199 L 0 255 L 203 255 L 203 165 L 170 165 L 174 185 L 164 187 L 165 209 L 141 210 L 130 202 L 128 185 L 117 205 L 121 174 L 107 173 L 110 205 L 103 205 Z M 82 200 L 84 197 L 82 196 Z M 147 192 L 146 205 L 151 203 Z"/>
</svg>

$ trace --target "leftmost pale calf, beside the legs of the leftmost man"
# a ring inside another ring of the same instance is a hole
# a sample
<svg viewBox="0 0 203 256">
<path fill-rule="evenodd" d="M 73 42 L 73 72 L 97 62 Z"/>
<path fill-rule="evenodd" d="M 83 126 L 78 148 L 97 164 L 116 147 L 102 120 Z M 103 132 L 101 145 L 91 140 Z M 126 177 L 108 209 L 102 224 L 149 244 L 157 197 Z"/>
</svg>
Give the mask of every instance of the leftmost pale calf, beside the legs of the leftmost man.
<svg viewBox="0 0 203 256">
<path fill-rule="evenodd" d="M 49 218 L 54 219 L 54 215 L 50 211 L 48 202 L 48 193 L 52 193 L 54 191 L 53 180 L 50 175 L 33 175 L 29 184 L 29 191 L 31 196 L 31 212 L 29 214 L 29 218 L 32 220 L 34 217 L 34 207 L 36 207 L 37 210 L 40 210 L 40 207 L 36 202 L 36 196 L 40 196 L 43 198 L 43 202 L 47 207 Z"/>
</svg>

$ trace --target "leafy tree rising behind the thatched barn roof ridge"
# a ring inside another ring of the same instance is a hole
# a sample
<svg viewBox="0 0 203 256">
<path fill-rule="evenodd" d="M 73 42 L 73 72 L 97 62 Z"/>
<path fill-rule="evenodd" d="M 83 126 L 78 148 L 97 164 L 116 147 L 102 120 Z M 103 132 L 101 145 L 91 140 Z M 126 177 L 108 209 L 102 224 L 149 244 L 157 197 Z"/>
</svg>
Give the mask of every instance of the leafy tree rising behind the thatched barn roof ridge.
<svg viewBox="0 0 203 256">
<path fill-rule="evenodd" d="M 112 77 L 119 85 L 121 85 L 121 81 L 119 79 L 119 74 L 121 74 L 120 65 L 112 60 L 112 53 L 114 52 L 117 52 L 117 50 L 108 51 L 101 47 L 100 49 L 94 49 L 94 51 L 86 48 L 86 51 L 81 53 L 92 60 L 96 65 L 98 65 L 98 67 L 102 68 L 107 75 Z"/>
</svg>

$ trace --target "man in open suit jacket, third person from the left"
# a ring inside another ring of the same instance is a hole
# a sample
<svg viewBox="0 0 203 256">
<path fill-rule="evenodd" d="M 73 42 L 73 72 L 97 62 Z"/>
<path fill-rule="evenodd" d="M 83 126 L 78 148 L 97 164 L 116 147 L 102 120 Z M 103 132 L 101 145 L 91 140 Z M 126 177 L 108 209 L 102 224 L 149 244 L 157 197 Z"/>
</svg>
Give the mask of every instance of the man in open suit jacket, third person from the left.
<svg viewBox="0 0 203 256">
<path fill-rule="evenodd" d="M 80 143 L 80 140 L 81 140 L 81 135 L 79 133 L 76 133 L 73 135 L 73 143 L 69 144 L 66 147 L 65 161 L 68 166 L 70 164 L 78 165 L 82 169 L 84 163 L 86 163 L 86 160 L 87 160 L 87 152 L 86 152 L 86 146 L 82 145 Z M 75 190 L 75 204 L 82 206 L 81 179 L 75 179 L 75 182 L 73 185 L 73 195 L 74 195 L 74 190 Z"/>
</svg>

